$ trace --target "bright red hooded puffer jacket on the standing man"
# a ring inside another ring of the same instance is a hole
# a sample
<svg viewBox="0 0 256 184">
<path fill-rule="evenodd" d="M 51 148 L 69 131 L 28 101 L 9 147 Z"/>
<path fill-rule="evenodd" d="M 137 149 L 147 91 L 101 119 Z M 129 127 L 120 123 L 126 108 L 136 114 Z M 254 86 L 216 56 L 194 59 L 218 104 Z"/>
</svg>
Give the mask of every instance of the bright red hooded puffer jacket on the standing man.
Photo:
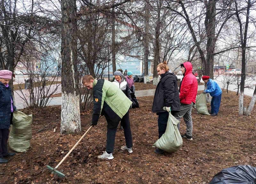
<svg viewBox="0 0 256 184">
<path fill-rule="evenodd" d="M 191 62 L 184 62 L 183 66 L 186 69 L 183 74 L 183 79 L 180 85 L 180 103 L 191 104 L 196 103 L 197 98 L 197 78 L 192 74 L 193 66 Z"/>
</svg>

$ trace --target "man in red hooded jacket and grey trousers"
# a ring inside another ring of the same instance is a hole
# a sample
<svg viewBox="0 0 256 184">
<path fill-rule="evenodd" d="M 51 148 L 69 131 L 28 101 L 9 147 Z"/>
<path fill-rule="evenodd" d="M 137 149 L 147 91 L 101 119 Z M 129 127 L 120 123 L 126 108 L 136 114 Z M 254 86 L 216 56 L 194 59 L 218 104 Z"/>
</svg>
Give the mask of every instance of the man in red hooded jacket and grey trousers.
<svg viewBox="0 0 256 184">
<path fill-rule="evenodd" d="M 178 117 L 183 117 L 187 126 L 186 133 L 182 135 L 182 138 L 193 140 L 193 122 L 191 112 L 197 97 L 197 78 L 192 74 L 193 66 L 191 62 L 184 62 L 180 66 L 184 77 L 180 82 L 180 112 L 178 113 Z M 178 124 L 178 128 L 180 128 L 180 124 Z"/>
</svg>

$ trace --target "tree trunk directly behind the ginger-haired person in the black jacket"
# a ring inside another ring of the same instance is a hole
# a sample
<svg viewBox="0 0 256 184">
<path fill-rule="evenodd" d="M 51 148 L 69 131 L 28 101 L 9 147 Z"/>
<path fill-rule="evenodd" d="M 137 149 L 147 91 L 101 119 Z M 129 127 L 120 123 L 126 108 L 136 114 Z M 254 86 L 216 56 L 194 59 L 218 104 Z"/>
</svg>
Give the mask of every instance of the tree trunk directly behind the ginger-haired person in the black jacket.
<svg viewBox="0 0 256 184">
<path fill-rule="evenodd" d="M 154 55 L 154 71 L 153 71 L 153 85 L 157 85 L 159 82 L 159 76 L 157 74 L 157 65 L 160 62 L 160 45 L 159 45 L 159 36 L 160 36 L 160 11 L 162 7 L 162 1 L 157 1 L 157 23 L 155 28 L 155 55 Z"/>
</svg>

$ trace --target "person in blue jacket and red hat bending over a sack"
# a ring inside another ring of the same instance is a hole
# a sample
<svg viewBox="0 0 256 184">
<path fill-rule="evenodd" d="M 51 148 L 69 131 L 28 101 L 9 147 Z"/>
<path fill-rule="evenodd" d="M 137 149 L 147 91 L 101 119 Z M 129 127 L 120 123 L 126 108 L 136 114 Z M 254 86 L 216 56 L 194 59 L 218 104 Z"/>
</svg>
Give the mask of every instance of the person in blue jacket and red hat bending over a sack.
<svg viewBox="0 0 256 184">
<path fill-rule="evenodd" d="M 222 90 L 220 89 L 220 86 L 215 81 L 210 79 L 209 76 L 203 76 L 202 79 L 203 79 L 203 82 L 205 82 L 207 85 L 207 89 L 203 93 L 209 93 L 212 96 L 211 116 L 216 116 L 218 115 L 218 112 L 220 109 Z"/>
</svg>

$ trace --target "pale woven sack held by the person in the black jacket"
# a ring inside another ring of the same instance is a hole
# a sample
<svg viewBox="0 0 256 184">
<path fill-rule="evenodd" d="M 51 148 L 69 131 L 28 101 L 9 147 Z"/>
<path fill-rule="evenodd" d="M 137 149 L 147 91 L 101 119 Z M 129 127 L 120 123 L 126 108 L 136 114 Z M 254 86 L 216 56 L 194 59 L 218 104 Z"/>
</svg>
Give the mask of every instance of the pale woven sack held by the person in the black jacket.
<svg viewBox="0 0 256 184">
<path fill-rule="evenodd" d="M 177 127 L 178 123 L 180 122 L 169 112 L 165 133 L 155 142 L 154 146 L 169 153 L 180 149 L 183 141 Z"/>
</svg>

